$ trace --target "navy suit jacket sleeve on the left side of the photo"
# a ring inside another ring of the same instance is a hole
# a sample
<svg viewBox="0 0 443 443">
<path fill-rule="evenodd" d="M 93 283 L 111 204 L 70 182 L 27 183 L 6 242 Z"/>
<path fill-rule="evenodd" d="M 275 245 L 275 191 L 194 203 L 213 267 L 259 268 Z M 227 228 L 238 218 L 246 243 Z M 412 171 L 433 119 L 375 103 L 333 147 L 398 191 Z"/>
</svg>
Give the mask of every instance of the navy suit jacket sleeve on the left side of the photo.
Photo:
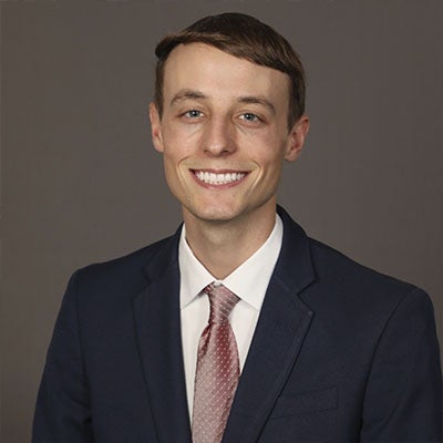
<svg viewBox="0 0 443 443">
<path fill-rule="evenodd" d="M 32 443 L 93 443 L 78 321 L 76 274 L 68 285 L 37 399 Z"/>
</svg>

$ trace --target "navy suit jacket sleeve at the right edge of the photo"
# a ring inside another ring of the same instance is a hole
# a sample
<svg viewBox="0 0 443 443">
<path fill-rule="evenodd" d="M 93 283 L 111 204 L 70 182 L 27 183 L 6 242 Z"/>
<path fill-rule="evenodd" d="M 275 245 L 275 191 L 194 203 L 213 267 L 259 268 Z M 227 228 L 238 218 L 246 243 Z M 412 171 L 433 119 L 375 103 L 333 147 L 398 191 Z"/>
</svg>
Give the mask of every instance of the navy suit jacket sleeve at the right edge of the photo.
<svg viewBox="0 0 443 443">
<path fill-rule="evenodd" d="M 434 312 L 412 290 L 379 340 L 368 379 L 361 442 L 442 442 L 442 373 Z"/>
</svg>

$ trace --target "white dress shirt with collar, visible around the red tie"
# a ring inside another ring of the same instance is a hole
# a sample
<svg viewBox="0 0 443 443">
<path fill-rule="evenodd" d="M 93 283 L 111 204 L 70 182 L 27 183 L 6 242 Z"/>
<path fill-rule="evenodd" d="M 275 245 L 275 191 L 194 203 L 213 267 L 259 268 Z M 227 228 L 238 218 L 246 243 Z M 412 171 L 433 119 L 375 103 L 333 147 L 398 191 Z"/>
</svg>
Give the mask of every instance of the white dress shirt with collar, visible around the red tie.
<svg viewBox="0 0 443 443">
<path fill-rule="evenodd" d="M 224 280 L 217 280 L 195 257 L 186 241 L 186 229 L 183 226 L 178 246 L 178 265 L 181 270 L 182 346 L 190 418 L 198 342 L 209 319 L 209 299 L 203 289 L 213 281 L 220 282 L 240 299 L 235 306 L 229 321 L 237 341 L 241 371 L 265 293 L 280 254 L 282 236 L 282 222 L 276 215 L 274 229 L 261 247 Z"/>
</svg>

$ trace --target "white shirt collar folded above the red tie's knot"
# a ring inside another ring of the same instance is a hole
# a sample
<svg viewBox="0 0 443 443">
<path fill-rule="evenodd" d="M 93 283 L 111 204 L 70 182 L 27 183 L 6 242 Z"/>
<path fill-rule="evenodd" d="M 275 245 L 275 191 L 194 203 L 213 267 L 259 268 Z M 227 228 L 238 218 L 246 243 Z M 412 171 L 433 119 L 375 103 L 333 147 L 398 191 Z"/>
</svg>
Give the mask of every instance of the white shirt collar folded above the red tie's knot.
<svg viewBox="0 0 443 443">
<path fill-rule="evenodd" d="M 224 280 L 217 280 L 195 257 L 186 241 L 184 225 L 178 245 L 181 309 L 189 305 L 207 285 L 220 281 L 241 300 L 259 310 L 280 254 L 282 236 L 282 222 L 276 214 L 274 229 L 260 248 Z"/>
</svg>

